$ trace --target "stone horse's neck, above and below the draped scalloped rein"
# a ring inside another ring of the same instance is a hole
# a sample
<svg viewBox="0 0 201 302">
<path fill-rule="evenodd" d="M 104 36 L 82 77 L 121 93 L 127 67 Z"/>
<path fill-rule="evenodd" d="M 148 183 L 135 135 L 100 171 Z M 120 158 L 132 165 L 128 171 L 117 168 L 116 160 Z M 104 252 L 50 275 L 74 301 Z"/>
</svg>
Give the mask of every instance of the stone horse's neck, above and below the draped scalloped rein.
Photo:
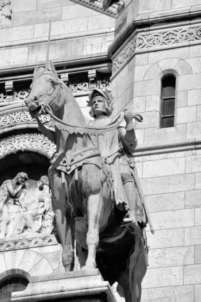
<svg viewBox="0 0 201 302">
<path fill-rule="evenodd" d="M 65 90 L 64 90 L 65 89 Z M 86 122 L 84 116 L 81 112 L 77 101 L 73 97 L 70 90 L 64 86 L 64 106 L 57 112 L 57 117 L 60 118 L 64 123 L 75 125 L 77 127 L 85 127 Z M 59 154 L 71 150 L 76 152 L 83 147 L 92 146 L 91 140 L 86 135 L 80 134 L 68 134 L 65 130 L 56 131 L 57 136 L 57 152 Z"/>
</svg>

